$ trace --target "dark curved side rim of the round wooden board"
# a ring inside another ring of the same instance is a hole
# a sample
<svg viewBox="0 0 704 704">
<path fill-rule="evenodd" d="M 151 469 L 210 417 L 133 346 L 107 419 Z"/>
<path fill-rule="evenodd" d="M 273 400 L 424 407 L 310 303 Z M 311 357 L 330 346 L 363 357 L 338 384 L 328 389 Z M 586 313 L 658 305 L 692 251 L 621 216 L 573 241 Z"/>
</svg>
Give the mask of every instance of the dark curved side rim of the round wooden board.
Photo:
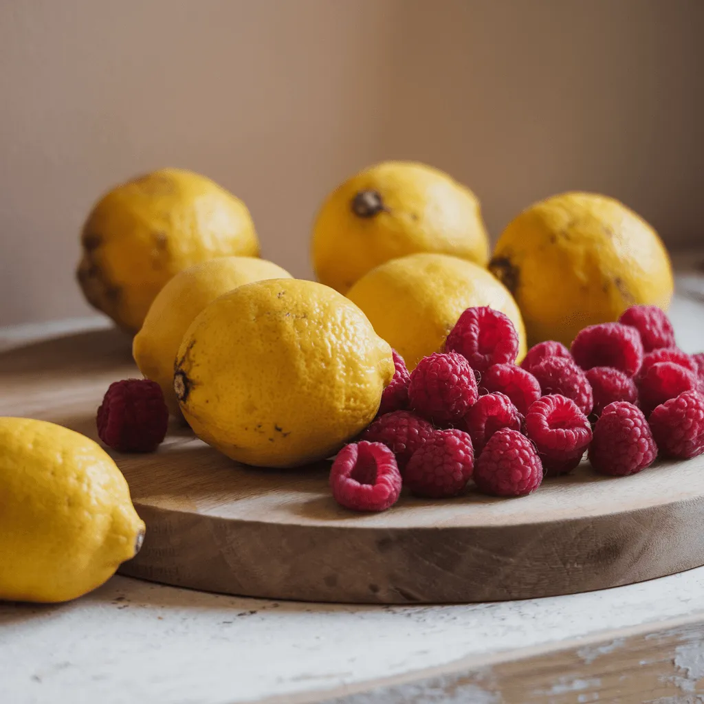
<svg viewBox="0 0 704 704">
<path fill-rule="evenodd" d="M 606 589 L 704 565 L 701 497 L 677 510 L 653 507 L 598 521 L 413 530 L 232 520 L 153 505 L 137 504 L 137 510 L 146 538 L 122 574 L 238 596 L 507 601 Z M 565 545 L 565 535 L 571 555 L 553 548 Z"/>
</svg>

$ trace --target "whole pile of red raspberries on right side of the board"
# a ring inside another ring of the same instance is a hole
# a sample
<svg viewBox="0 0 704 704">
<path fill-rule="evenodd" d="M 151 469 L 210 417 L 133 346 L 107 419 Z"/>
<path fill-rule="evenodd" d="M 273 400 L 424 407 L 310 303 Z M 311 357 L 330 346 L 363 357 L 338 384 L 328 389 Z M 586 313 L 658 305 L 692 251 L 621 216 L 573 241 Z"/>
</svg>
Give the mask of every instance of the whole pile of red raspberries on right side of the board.
<svg viewBox="0 0 704 704">
<path fill-rule="evenodd" d="M 449 498 L 470 486 L 526 496 L 574 470 L 624 477 L 662 457 L 704 453 L 704 353 L 677 348 L 667 315 L 632 306 L 585 327 L 570 349 L 536 344 L 520 365 L 503 313 L 467 308 L 443 351 L 396 373 L 379 414 L 335 458 L 330 487 L 354 510 L 410 494 Z"/>
</svg>

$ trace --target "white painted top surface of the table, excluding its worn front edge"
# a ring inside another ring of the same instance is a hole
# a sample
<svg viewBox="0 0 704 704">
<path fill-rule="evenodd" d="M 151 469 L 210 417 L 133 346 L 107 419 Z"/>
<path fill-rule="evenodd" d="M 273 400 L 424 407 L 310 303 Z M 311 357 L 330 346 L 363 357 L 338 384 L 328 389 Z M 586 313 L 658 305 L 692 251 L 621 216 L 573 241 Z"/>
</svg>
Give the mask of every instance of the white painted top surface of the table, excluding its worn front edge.
<svg viewBox="0 0 704 704">
<path fill-rule="evenodd" d="M 702 277 L 685 272 L 677 283 L 679 344 L 703 350 Z M 0 348 L 106 325 L 92 318 L 0 328 Z M 265 601 L 113 577 L 73 603 L 0 605 L 0 701 L 309 702 L 568 644 L 589 663 L 606 652 L 595 645 L 606 639 L 617 649 L 624 634 L 703 620 L 704 567 L 571 596 L 420 607 Z M 704 676 L 704 659 L 696 662 Z"/>
</svg>

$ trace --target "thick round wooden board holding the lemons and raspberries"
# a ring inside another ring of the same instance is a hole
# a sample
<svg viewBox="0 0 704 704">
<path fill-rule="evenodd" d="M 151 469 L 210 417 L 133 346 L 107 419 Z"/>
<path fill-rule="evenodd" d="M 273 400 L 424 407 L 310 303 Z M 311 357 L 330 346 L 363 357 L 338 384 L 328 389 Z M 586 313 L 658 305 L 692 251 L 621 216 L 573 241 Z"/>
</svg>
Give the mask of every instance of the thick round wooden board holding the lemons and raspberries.
<svg viewBox="0 0 704 704">
<path fill-rule="evenodd" d="M 0 354 L 0 415 L 91 437 L 108 384 L 137 375 L 115 331 Z M 121 572 L 244 596 L 354 603 L 533 598 L 704 565 L 704 457 L 622 479 L 588 465 L 524 498 L 402 496 L 386 513 L 339 508 L 327 463 L 242 467 L 172 423 L 158 452 L 112 453 L 147 526 Z"/>
</svg>

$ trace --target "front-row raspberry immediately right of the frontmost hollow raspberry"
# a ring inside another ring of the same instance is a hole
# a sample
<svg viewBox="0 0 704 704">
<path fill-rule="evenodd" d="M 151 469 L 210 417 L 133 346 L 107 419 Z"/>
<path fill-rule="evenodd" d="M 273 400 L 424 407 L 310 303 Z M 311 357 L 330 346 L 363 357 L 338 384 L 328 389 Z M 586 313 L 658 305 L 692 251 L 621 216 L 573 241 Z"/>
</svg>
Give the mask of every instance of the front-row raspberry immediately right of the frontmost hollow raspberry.
<svg viewBox="0 0 704 704">
<path fill-rule="evenodd" d="M 474 470 L 472 439 L 461 430 L 436 430 L 418 448 L 406 467 L 403 482 L 416 496 L 457 496 Z"/>
</svg>

